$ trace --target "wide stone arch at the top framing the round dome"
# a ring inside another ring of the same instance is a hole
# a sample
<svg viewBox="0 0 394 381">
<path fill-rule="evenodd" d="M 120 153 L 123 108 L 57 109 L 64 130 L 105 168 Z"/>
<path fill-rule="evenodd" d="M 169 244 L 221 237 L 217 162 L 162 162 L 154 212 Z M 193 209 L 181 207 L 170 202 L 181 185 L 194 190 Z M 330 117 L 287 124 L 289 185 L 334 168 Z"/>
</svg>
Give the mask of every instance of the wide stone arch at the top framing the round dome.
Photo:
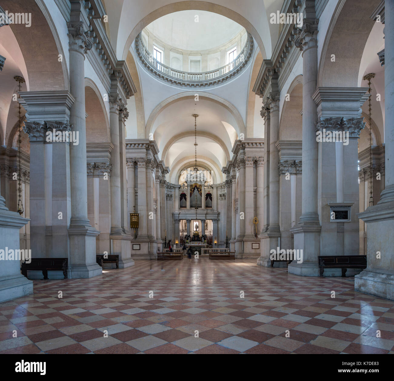
<svg viewBox="0 0 394 381">
<path fill-rule="evenodd" d="M 158 9 L 155 9 L 148 15 L 146 15 L 142 20 L 136 24 L 134 29 L 130 32 L 130 35 L 128 36 L 125 46 L 123 47 L 123 54 L 122 54 L 122 59 L 126 59 L 127 57 L 127 52 L 130 49 L 130 46 L 132 45 L 133 41 L 136 39 L 137 35 L 145 26 L 149 25 L 151 22 L 153 22 L 156 19 L 159 19 L 162 16 L 168 15 L 169 13 L 174 13 L 178 11 L 186 11 L 189 9 L 195 9 L 198 11 L 208 11 L 208 12 L 213 12 L 217 13 L 219 15 L 225 16 L 241 26 L 243 26 L 255 39 L 257 45 L 259 46 L 260 50 L 264 52 L 264 57 L 266 57 L 266 52 L 264 48 L 264 44 L 262 42 L 262 39 L 260 38 L 259 33 L 256 31 L 255 27 L 243 16 L 241 16 L 238 12 L 233 11 L 230 8 L 223 7 L 221 5 L 211 3 L 211 2 L 206 2 L 206 1 L 197 1 L 197 0 L 192 0 L 192 1 L 180 1 L 180 2 L 174 2 L 171 4 L 167 4 L 165 6 L 162 6 Z M 264 9 L 264 8 L 263 8 Z M 268 21 L 268 19 L 267 19 Z M 271 43 L 270 39 L 268 41 Z M 271 48 L 271 46 L 269 46 Z M 117 49 L 118 50 L 118 49 Z"/>
</svg>

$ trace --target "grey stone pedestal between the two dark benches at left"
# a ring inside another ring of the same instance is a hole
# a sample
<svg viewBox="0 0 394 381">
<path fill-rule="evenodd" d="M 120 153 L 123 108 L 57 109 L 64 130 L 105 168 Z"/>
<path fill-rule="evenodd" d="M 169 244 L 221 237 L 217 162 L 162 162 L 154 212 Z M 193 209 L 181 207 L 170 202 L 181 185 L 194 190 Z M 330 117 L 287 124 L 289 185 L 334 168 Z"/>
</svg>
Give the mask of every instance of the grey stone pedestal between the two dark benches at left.
<svg viewBox="0 0 394 381">
<path fill-rule="evenodd" d="M 96 237 L 100 232 L 89 225 L 70 225 L 69 279 L 92 278 L 102 274 L 96 263 Z"/>
</svg>

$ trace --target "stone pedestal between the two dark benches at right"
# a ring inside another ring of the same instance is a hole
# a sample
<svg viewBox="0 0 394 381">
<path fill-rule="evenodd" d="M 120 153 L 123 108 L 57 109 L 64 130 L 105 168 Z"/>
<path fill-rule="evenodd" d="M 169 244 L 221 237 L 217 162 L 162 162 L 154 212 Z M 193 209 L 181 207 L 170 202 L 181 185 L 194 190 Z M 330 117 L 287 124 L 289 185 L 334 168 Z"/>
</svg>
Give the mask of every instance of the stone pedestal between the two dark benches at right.
<svg viewBox="0 0 394 381">
<path fill-rule="evenodd" d="M 290 274 L 305 277 L 319 276 L 320 230 L 322 227 L 318 221 L 299 223 L 290 229 L 290 232 L 294 234 L 294 249 L 302 253 L 302 263 L 293 260 L 288 265 L 287 269 Z"/>
</svg>

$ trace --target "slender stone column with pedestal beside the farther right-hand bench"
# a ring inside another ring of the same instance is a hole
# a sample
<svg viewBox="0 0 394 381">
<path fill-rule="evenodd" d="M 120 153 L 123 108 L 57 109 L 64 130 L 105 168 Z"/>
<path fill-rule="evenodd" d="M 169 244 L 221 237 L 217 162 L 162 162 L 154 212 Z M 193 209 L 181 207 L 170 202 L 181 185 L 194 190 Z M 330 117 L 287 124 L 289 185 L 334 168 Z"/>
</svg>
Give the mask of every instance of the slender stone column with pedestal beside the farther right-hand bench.
<svg viewBox="0 0 394 381">
<path fill-rule="evenodd" d="M 271 78 L 275 83 L 277 78 Z M 270 123 L 269 123 L 269 226 L 267 231 L 262 232 L 261 255 L 257 260 L 260 266 L 271 266 L 270 251 L 280 247 L 281 229 L 279 226 L 279 150 L 276 142 L 279 136 L 279 93 L 271 93 L 270 103 Z M 265 142 L 264 142 L 265 145 Z M 290 249 L 290 248 L 289 248 Z M 284 267 L 286 262 L 275 262 L 275 267 Z"/>
</svg>

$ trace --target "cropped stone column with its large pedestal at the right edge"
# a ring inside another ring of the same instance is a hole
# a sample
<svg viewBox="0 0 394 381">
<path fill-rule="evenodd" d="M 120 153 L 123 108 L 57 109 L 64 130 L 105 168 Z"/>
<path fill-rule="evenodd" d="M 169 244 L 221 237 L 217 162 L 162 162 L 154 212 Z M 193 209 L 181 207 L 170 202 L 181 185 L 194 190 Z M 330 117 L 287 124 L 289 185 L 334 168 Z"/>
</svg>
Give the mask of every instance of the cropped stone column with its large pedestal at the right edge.
<svg viewBox="0 0 394 381">
<path fill-rule="evenodd" d="M 387 16 L 387 17 L 386 17 Z M 367 225 L 367 268 L 355 290 L 394 299 L 394 4 L 385 1 L 385 190 L 380 201 L 358 215 Z M 379 254 L 378 254 L 379 252 Z"/>
</svg>

